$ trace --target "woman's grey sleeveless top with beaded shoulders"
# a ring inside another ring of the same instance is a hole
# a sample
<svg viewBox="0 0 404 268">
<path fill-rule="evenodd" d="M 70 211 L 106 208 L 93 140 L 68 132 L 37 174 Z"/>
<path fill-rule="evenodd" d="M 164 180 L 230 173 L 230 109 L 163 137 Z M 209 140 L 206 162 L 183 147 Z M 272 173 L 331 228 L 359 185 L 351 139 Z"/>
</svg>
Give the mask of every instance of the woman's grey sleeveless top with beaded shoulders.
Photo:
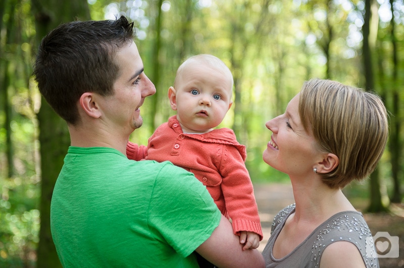
<svg viewBox="0 0 404 268">
<path fill-rule="evenodd" d="M 292 252 L 283 258 L 274 258 L 272 249 L 275 240 L 294 210 L 295 204 L 284 208 L 272 222 L 271 237 L 262 252 L 267 267 L 319 267 L 324 249 L 337 241 L 348 241 L 356 245 L 366 267 L 379 267 L 372 234 L 362 213 L 356 211 L 345 211 L 331 216 Z"/>
</svg>

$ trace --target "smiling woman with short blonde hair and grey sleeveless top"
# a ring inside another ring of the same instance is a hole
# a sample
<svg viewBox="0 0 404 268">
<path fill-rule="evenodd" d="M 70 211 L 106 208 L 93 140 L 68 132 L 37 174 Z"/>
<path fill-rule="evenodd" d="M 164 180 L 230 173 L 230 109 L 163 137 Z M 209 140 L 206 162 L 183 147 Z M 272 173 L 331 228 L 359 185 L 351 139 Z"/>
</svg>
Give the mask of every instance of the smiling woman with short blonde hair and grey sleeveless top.
<svg viewBox="0 0 404 268">
<path fill-rule="evenodd" d="M 263 159 L 289 175 L 295 200 L 273 221 L 267 267 L 378 267 L 369 227 L 341 189 L 367 177 L 383 154 L 381 99 L 314 79 L 266 126 L 273 134 Z"/>
</svg>

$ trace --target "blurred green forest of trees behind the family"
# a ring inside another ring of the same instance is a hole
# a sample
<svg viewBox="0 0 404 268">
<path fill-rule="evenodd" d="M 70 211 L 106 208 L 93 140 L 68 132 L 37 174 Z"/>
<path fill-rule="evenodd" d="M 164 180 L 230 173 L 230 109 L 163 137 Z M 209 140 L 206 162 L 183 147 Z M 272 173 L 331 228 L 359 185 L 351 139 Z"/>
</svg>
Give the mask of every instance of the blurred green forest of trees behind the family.
<svg viewBox="0 0 404 268">
<path fill-rule="evenodd" d="M 402 200 L 404 4 L 402 0 L 3 0 L 0 1 L 0 266 L 60 265 L 49 230 L 53 186 L 69 146 L 66 123 L 43 101 L 32 73 L 41 38 L 60 23 L 135 22 L 145 73 L 157 93 L 142 106 L 131 141 L 147 144 L 173 114 L 167 90 L 198 53 L 221 58 L 234 76 L 234 105 L 221 126 L 247 147 L 254 183 L 287 182 L 262 161 L 265 122 L 283 113 L 310 78 L 377 92 L 390 112 L 378 168 L 345 189 L 367 210 Z M 372 133 L 369 133 L 372 135 Z"/>
</svg>

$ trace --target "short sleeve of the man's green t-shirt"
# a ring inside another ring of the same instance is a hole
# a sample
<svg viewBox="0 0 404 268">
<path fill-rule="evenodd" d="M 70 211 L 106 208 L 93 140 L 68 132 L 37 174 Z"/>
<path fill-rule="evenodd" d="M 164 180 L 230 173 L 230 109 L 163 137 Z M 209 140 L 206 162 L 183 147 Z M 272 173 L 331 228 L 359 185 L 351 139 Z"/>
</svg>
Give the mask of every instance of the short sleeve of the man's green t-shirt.
<svg viewBox="0 0 404 268">
<path fill-rule="evenodd" d="M 192 173 L 165 163 L 151 196 L 149 226 L 159 230 L 167 243 L 186 257 L 211 236 L 221 214 Z"/>
</svg>

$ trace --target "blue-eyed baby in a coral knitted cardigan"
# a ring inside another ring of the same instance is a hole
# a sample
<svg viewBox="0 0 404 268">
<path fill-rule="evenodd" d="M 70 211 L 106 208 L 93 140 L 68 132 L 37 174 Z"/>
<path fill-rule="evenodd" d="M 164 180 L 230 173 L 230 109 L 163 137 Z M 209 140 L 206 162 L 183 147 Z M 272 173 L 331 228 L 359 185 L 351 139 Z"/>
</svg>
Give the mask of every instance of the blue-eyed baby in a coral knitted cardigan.
<svg viewBox="0 0 404 268">
<path fill-rule="evenodd" d="M 263 238 L 252 183 L 245 167 L 246 150 L 229 128 L 215 129 L 233 104 L 233 76 L 219 58 L 199 54 L 178 68 L 168 90 L 177 114 L 148 140 L 147 160 L 170 161 L 190 172 L 231 219 L 243 250 L 257 248 Z M 131 143 L 128 158 L 135 159 Z"/>
</svg>

